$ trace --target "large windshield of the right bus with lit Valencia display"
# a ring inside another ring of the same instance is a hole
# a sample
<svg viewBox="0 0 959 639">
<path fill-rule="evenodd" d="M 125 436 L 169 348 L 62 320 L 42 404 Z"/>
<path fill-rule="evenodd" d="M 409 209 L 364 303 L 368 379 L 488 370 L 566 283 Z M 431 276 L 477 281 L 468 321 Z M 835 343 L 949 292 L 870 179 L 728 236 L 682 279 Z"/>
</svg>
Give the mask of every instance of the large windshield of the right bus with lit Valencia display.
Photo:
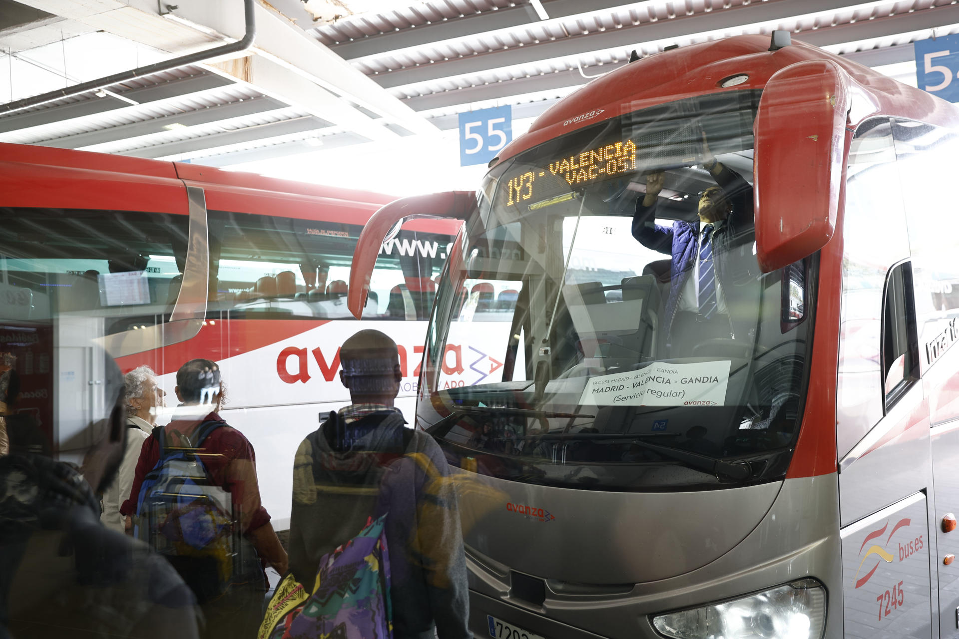
<svg viewBox="0 0 959 639">
<path fill-rule="evenodd" d="M 597 490 L 784 475 L 816 260 L 757 263 L 758 103 L 657 105 L 490 171 L 438 291 L 418 408 L 452 463 Z"/>
</svg>

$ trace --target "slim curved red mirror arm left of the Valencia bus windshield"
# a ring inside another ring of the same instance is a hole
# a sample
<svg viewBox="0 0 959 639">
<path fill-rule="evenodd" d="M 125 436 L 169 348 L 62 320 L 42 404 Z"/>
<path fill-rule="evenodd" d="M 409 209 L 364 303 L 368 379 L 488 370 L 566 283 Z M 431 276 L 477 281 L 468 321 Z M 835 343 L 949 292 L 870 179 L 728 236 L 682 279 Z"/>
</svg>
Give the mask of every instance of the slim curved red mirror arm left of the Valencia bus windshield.
<svg viewBox="0 0 959 639">
<path fill-rule="evenodd" d="M 360 319 L 363 314 L 366 296 L 369 294 L 369 280 L 373 274 L 373 266 L 376 265 L 376 258 L 380 255 L 380 247 L 384 241 L 396 236 L 405 221 L 417 217 L 453 217 L 465 220 L 476 208 L 475 191 L 447 191 L 401 197 L 374 213 L 363 226 L 350 267 L 346 307 L 353 316 Z"/>
</svg>

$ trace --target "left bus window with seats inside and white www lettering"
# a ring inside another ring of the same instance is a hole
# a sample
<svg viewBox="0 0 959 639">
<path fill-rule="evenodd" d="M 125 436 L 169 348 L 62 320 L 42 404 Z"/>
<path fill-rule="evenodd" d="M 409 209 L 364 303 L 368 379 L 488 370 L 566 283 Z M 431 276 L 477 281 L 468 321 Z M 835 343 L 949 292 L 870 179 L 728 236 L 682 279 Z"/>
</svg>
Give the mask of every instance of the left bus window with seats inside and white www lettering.
<svg viewBox="0 0 959 639">
<path fill-rule="evenodd" d="M 350 265 L 363 226 L 210 211 L 211 312 L 235 319 L 353 319 Z M 364 318 L 423 320 L 450 236 L 401 231 L 384 243 Z"/>
</svg>

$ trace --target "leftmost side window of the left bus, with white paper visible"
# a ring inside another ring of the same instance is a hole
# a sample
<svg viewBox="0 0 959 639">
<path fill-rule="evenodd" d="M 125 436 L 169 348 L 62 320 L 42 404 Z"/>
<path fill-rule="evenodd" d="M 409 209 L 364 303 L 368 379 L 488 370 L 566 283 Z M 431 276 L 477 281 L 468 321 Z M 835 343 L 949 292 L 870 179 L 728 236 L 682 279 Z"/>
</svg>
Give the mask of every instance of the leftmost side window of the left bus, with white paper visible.
<svg viewBox="0 0 959 639">
<path fill-rule="evenodd" d="M 112 334 L 169 318 L 186 262 L 186 216 L 3 208 L 0 221 L 0 292 L 17 300 L 8 319 L 96 315 Z"/>
</svg>

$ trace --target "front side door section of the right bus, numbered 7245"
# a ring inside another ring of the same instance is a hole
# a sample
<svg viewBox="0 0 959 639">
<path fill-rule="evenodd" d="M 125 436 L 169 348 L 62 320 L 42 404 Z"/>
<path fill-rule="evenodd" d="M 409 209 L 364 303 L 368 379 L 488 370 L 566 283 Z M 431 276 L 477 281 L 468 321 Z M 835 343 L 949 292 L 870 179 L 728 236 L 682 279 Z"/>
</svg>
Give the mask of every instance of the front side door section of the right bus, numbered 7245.
<svg viewBox="0 0 959 639">
<path fill-rule="evenodd" d="M 850 150 L 836 393 L 848 637 L 928 637 L 928 422 L 900 173 L 888 119 Z"/>
</svg>

